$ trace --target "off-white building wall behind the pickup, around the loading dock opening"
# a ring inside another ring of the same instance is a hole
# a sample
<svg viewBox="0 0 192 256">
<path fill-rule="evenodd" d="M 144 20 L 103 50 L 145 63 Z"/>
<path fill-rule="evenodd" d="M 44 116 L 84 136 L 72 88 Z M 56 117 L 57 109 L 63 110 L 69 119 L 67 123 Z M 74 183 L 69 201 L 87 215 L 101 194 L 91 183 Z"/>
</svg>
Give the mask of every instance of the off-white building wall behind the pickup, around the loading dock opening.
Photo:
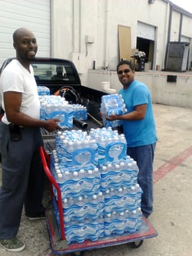
<svg viewBox="0 0 192 256">
<path fill-rule="evenodd" d="M 71 59 L 81 82 L 87 85 L 88 70 L 115 70 L 119 60 L 118 25 L 131 27 L 131 48 L 137 44 L 137 22 L 155 27 L 154 69 L 164 68 L 167 38 L 178 41 L 180 13 L 166 0 L 51 0 L 51 55 Z M 181 34 L 192 38 L 192 15 L 182 15 Z M 87 41 L 86 41 L 87 40 Z"/>
</svg>

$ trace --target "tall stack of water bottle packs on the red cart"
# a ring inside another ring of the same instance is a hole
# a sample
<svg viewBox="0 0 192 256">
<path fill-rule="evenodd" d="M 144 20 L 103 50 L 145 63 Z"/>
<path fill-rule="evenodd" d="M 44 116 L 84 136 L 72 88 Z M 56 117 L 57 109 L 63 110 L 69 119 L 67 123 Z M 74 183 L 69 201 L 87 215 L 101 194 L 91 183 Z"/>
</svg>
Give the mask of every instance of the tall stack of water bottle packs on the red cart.
<svg viewBox="0 0 192 256">
<path fill-rule="evenodd" d="M 68 244 L 97 241 L 141 227 L 137 163 L 126 155 L 124 135 L 111 128 L 59 131 L 51 173 L 61 189 Z M 58 194 L 53 210 L 60 227 Z"/>
</svg>

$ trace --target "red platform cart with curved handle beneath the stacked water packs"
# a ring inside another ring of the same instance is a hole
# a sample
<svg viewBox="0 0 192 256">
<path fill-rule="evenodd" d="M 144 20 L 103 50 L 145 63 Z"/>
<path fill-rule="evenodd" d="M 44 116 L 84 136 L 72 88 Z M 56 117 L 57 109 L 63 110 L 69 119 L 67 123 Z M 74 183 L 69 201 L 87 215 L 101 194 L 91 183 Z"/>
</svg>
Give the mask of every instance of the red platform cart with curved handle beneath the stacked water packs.
<svg viewBox="0 0 192 256">
<path fill-rule="evenodd" d="M 142 217 L 141 228 L 134 234 L 124 233 L 119 236 L 117 234 L 113 234 L 108 238 L 101 238 L 98 241 L 89 241 L 86 240 L 83 243 L 73 243 L 68 244 L 65 239 L 65 224 L 63 221 L 63 208 L 61 201 L 61 190 L 58 186 L 58 183 L 55 181 L 53 175 L 51 175 L 50 171 L 50 158 L 46 153 L 45 148 L 40 148 L 41 161 L 43 164 L 43 168 L 45 170 L 45 175 L 48 177 L 51 185 L 51 199 L 55 200 L 55 195 L 52 190 L 52 185 L 55 186 L 58 194 L 58 200 L 55 200 L 58 206 L 59 220 L 60 220 L 60 232 L 58 230 L 58 225 L 56 224 L 55 215 L 52 210 L 46 210 L 46 224 L 48 228 L 48 236 L 51 244 L 51 251 L 53 254 L 74 254 L 81 255 L 86 250 L 96 249 L 96 248 L 104 248 L 108 246 L 118 245 L 118 244 L 126 244 L 130 243 L 133 248 L 139 248 L 141 244 L 143 244 L 144 239 L 154 238 L 157 236 L 157 231 L 151 225 L 151 223 Z"/>
</svg>

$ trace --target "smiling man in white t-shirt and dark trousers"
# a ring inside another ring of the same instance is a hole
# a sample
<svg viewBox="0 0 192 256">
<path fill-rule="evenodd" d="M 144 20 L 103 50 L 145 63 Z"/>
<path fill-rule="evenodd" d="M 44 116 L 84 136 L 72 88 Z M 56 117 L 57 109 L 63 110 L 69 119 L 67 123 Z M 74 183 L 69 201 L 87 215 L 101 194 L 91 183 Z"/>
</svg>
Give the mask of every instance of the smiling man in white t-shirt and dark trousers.
<svg viewBox="0 0 192 256">
<path fill-rule="evenodd" d="M 13 33 L 16 58 L 2 71 L 0 93 L 0 151 L 2 187 L 0 189 L 0 245 L 7 251 L 22 251 L 25 244 L 16 237 L 22 208 L 29 220 L 45 218 L 41 204 L 44 171 L 39 155 L 43 145 L 40 128 L 59 129 L 58 119 L 40 120 L 40 102 L 31 60 L 38 50 L 35 35 L 27 28 Z"/>
</svg>

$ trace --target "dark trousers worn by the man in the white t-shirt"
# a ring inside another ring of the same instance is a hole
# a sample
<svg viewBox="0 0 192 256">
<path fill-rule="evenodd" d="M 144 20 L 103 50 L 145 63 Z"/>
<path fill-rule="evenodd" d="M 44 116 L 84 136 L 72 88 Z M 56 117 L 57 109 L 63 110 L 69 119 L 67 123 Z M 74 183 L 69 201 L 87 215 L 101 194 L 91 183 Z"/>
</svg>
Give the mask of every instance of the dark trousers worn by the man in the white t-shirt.
<svg viewBox="0 0 192 256">
<path fill-rule="evenodd" d="M 43 211 L 45 173 L 38 152 L 43 145 L 38 128 L 21 128 L 22 140 L 11 141 L 8 125 L 0 122 L 2 187 L 0 189 L 0 239 L 14 238 L 25 204 L 25 214 Z"/>
</svg>

